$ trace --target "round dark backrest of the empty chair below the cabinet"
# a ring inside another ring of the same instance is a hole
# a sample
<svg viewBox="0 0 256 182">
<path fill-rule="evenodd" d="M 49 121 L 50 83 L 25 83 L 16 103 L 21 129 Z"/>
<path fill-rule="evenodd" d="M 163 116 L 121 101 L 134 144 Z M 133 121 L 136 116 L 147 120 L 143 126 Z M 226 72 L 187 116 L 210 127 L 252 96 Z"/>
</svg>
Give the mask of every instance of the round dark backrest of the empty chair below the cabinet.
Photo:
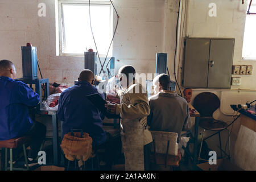
<svg viewBox="0 0 256 182">
<path fill-rule="evenodd" d="M 193 106 L 199 111 L 201 117 L 212 117 L 214 111 L 220 107 L 220 100 L 214 93 L 203 92 L 195 97 Z"/>
</svg>

